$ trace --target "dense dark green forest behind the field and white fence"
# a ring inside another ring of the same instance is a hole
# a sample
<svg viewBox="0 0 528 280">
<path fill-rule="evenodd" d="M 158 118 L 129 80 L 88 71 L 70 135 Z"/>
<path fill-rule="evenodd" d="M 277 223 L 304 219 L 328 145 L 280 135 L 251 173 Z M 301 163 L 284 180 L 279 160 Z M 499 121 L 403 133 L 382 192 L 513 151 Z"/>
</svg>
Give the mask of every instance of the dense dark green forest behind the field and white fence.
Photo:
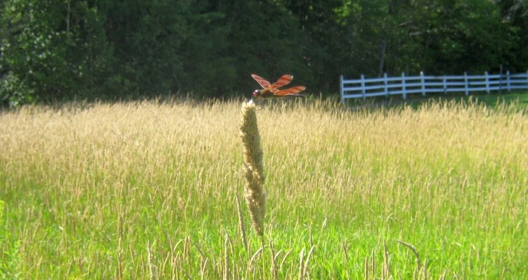
<svg viewBox="0 0 528 280">
<path fill-rule="evenodd" d="M 528 68 L 525 0 L 0 0 L 4 104 Z"/>
</svg>

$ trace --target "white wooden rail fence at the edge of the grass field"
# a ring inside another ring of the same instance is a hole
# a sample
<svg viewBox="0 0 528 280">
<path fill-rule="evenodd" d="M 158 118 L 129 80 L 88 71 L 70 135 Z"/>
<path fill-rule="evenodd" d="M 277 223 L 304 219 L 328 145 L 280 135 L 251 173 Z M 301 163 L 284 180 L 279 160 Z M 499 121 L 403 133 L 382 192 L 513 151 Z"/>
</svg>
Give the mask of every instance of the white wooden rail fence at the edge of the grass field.
<svg viewBox="0 0 528 280">
<path fill-rule="evenodd" d="M 462 76 L 420 76 L 383 77 L 374 79 L 344 79 L 341 75 L 341 103 L 347 98 L 366 98 L 372 96 L 399 95 L 406 99 L 408 94 L 464 92 L 469 95 L 471 91 L 512 91 L 513 89 L 528 89 L 528 72 L 503 75 L 467 75 Z"/>
</svg>

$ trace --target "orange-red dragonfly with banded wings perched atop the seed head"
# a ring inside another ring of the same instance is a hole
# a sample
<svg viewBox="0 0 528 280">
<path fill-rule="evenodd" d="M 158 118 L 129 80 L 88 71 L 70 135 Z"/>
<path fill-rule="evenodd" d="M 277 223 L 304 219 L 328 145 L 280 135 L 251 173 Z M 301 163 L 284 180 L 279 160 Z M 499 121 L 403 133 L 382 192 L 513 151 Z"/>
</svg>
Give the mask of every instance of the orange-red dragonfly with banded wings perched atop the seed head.
<svg viewBox="0 0 528 280">
<path fill-rule="evenodd" d="M 303 97 L 303 95 L 299 94 L 299 92 L 306 89 L 306 87 L 303 86 L 290 87 L 289 89 L 279 89 L 279 87 L 284 87 L 285 85 L 289 84 L 292 79 L 294 79 L 294 76 L 289 74 L 282 75 L 282 77 L 280 77 L 280 79 L 278 79 L 274 84 L 271 84 L 268 82 L 268 80 L 255 74 L 251 74 L 251 77 L 253 77 L 253 79 L 255 79 L 258 84 L 260 84 L 260 87 L 262 87 L 262 89 L 256 89 L 253 91 L 253 96 L 256 98 L 288 96 Z"/>
</svg>

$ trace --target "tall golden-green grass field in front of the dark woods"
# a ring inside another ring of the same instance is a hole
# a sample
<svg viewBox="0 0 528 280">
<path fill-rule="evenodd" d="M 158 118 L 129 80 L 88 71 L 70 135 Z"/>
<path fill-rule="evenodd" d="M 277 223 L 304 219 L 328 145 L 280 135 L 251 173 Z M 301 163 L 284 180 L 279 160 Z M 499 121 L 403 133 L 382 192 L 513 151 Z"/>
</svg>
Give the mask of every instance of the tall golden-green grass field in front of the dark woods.
<svg viewBox="0 0 528 280">
<path fill-rule="evenodd" d="M 240 107 L 0 113 L 0 279 L 528 279 L 517 103 L 259 106 L 263 238 Z"/>
</svg>

